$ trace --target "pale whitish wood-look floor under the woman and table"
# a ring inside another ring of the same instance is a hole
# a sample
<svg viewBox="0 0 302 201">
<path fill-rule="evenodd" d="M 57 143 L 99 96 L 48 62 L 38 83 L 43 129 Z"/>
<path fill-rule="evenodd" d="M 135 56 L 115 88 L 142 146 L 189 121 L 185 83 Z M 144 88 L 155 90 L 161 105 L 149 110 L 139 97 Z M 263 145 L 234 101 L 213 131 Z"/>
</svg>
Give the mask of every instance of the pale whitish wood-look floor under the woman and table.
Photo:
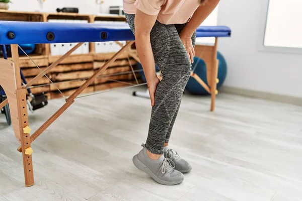
<svg viewBox="0 0 302 201">
<path fill-rule="evenodd" d="M 148 99 L 132 89 L 76 99 L 33 143 L 36 184 L 0 116 L 0 200 L 302 200 L 302 107 L 219 94 L 185 94 L 171 147 L 193 169 L 182 184 L 157 184 L 132 164 L 145 142 Z M 37 129 L 64 100 L 30 114 Z"/>
</svg>

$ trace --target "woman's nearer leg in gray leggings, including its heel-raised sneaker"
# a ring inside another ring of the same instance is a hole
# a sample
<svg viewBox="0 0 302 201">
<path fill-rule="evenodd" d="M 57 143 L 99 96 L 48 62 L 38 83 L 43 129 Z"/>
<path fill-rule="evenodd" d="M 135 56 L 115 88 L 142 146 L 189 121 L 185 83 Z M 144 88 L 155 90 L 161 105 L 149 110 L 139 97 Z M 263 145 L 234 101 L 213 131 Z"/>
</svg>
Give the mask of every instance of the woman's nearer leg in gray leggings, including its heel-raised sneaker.
<svg viewBox="0 0 302 201">
<path fill-rule="evenodd" d="M 133 33 L 134 18 L 134 15 L 126 15 Z M 174 170 L 170 165 L 173 162 L 168 163 L 163 156 L 164 142 L 190 77 L 191 63 L 174 25 L 156 22 L 150 33 L 150 43 L 163 79 L 155 92 L 146 144 L 132 160 L 138 169 L 157 182 L 172 185 L 182 182 L 184 176 Z M 148 153 L 157 154 L 158 158 L 151 159 Z"/>
</svg>

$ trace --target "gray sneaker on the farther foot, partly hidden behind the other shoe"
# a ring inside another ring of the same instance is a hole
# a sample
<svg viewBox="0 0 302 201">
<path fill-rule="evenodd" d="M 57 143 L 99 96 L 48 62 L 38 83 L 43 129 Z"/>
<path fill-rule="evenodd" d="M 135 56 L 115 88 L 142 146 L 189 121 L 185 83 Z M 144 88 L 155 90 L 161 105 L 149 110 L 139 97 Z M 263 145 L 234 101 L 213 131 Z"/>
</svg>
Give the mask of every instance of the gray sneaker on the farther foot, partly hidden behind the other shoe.
<svg viewBox="0 0 302 201">
<path fill-rule="evenodd" d="M 192 169 L 191 165 L 185 159 L 182 159 L 178 155 L 178 153 L 173 149 L 169 149 L 168 147 L 165 147 L 164 156 L 172 160 L 175 164 L 174 169 L 182 173 L 189 172 Z"/>
</svg>

